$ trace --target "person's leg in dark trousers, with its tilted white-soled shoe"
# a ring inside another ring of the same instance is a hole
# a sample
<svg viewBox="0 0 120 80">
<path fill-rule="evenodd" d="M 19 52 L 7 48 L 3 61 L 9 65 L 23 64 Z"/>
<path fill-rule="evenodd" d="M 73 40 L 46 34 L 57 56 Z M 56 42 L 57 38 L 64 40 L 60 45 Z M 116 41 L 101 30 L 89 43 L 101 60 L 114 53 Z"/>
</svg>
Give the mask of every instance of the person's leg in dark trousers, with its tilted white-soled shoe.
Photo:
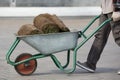
<svg viewBox="0 0 120 80">
<path fill-rule="evenodd" d="M 108 19 L 108 16 L 101 14 L 100 24 L 103 21 L 105 21 L 106 19 Z M 96 33 L 95 40 L 92 44 L 92 47 L 91 47 L 90 52 L 89 52 L 88 57 L 87 57 L 87 61 L 84 64 L 78 62 L 79 67 L 84 68 L 90 72 L 94 72 L 94 70 L 96 69 L 96 64 L 97 64 L 97 62 L 100 58 L 100 55 L 105 47 L 105 44 L 107 42 L 110 31 L 111 31 L 111 27 L 110 27 L 110 23 L 108 23 L 108 24 L 105 24 L 105 26 L 103 26 Z M 86 67 L 90 68 L 91 70 L 89 70 Z"/>
</svg>

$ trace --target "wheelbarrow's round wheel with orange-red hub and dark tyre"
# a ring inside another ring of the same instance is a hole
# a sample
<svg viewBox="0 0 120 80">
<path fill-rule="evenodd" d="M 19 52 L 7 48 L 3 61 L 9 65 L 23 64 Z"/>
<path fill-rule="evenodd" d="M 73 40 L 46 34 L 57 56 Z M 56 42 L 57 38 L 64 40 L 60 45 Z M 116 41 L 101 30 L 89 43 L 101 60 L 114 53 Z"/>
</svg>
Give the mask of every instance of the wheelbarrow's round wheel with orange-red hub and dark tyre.
<svg viewBox="0 0 120 80">
<path fill-rule="evenodd" d="M 16 58 L 15 62 L 19 62 L 19 61 L 28 59 L 30 57 L 32 57 L 31 54 L 23 53 Z M 20 75 L 28 76 L 28 75 L 31 75 L 36 70 L 37 61 L 36 59 L 30 60 L 30 61 L 18 64 L 14 67 L 15 67 L 16 72 L 19 73 Z"/>
</svg>

